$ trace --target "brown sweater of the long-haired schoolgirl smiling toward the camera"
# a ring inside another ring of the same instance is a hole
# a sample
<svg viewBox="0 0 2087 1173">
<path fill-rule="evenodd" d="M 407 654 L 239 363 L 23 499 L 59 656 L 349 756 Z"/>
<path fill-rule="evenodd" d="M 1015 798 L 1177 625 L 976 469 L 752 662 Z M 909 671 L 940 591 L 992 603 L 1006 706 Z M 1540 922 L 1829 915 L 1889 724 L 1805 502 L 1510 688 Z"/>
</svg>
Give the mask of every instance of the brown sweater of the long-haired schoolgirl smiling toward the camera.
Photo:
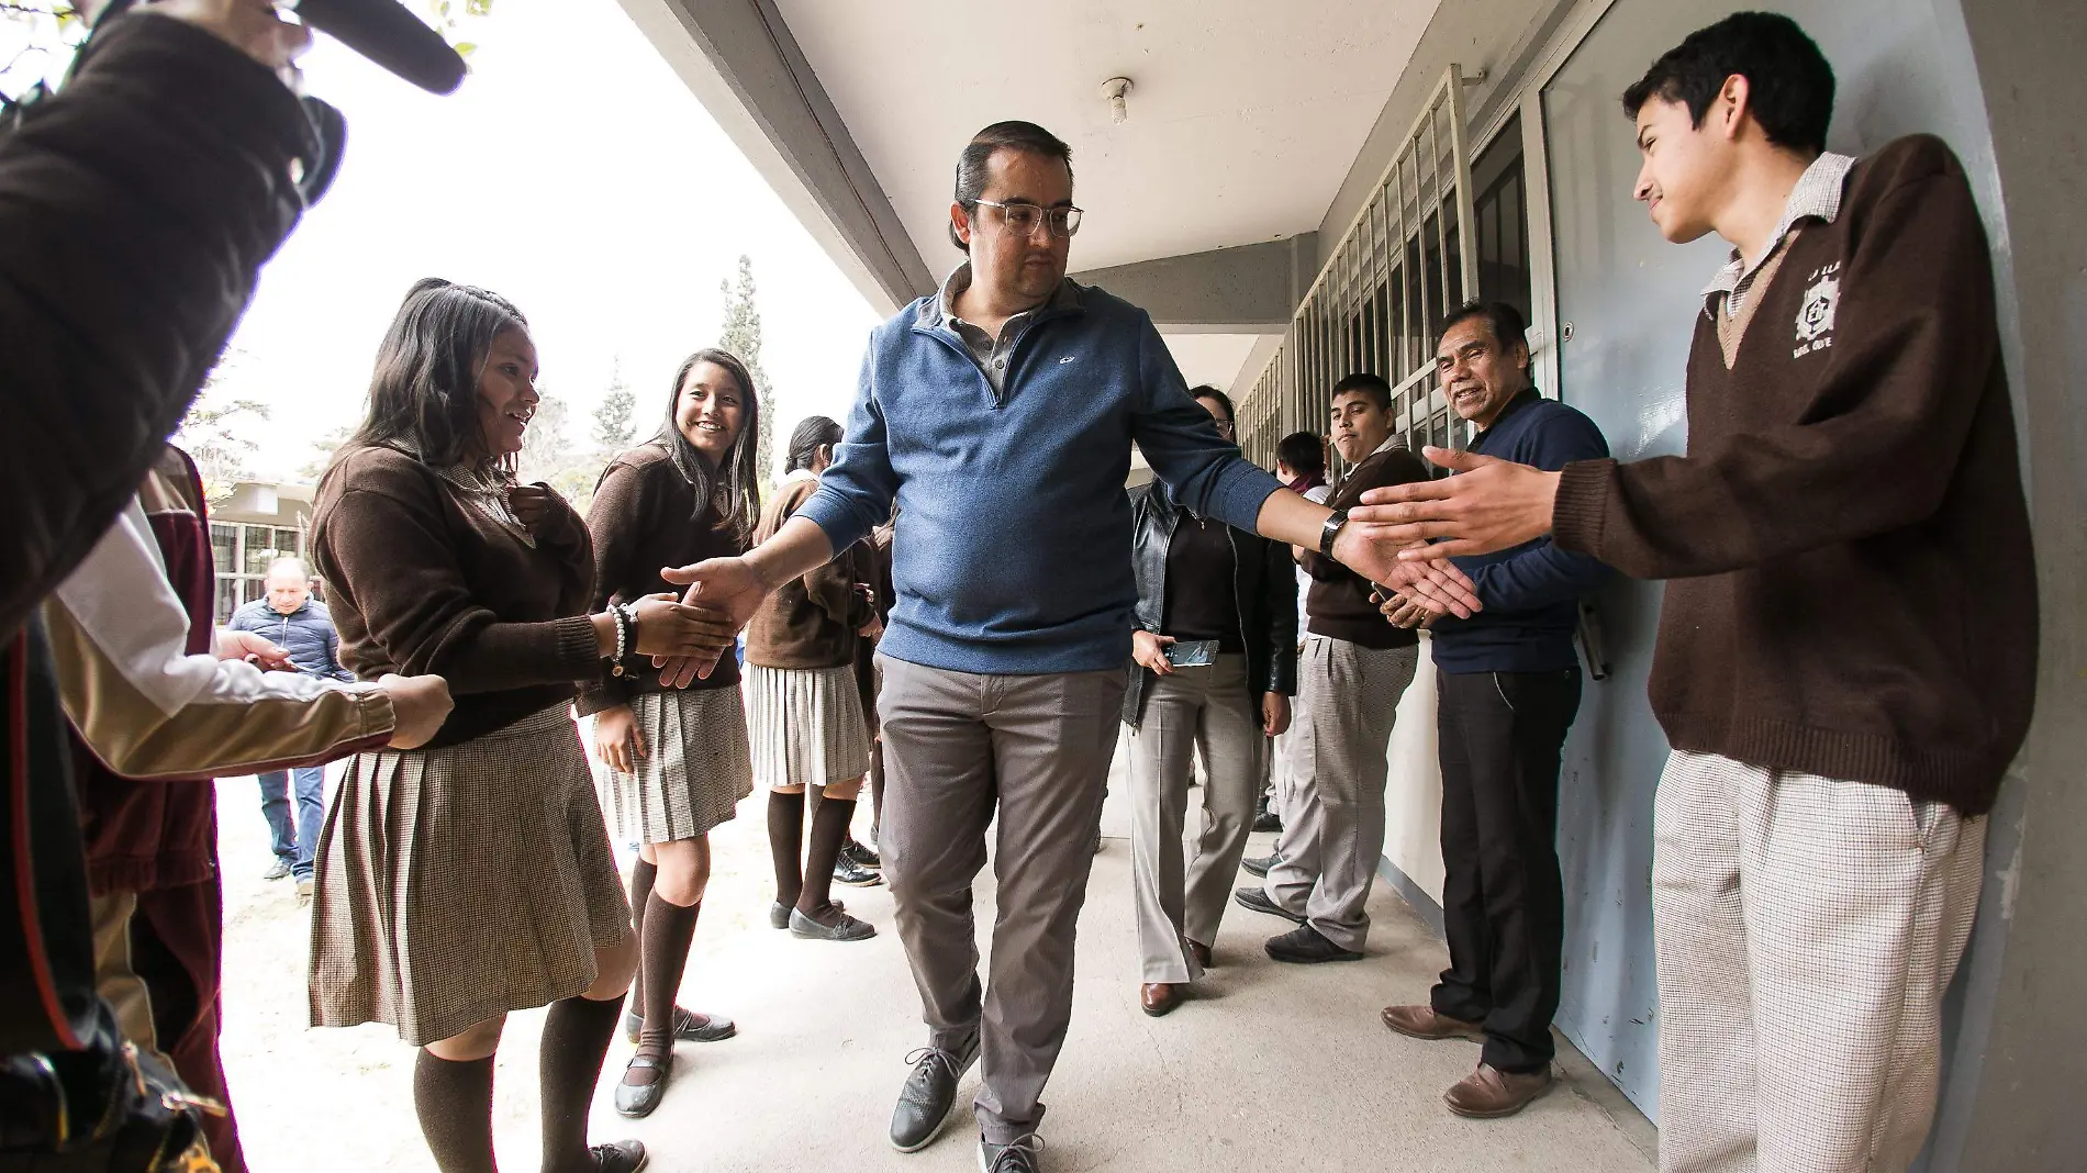
<svg viewBox="0 0 2087 1173">
<path fill-rule="evenodd" d="M 724 524 L 714 505 L 697 503 L 695 486 L 659 442 L 620 453 L 601 470 L 595 501 L 586 507 L 586 532 L 595 541 L 595 595 L 589 609 L 597 614 L 609 603 L 687 591 L 659 578 L 662 568 L 747 551 L 737 526 Z M 605 657 L 593 678 L 580 680 L 580 716 L 659 691 L 659 670 L 651 655 L 630 651 L 624 655 L 624 674 L 618 676 L 614 668 L 616 662 Z M 710 676 L 697 676 L 689 687 L 739 687 L 739 657 L 726 649 Z"/>
</svg>

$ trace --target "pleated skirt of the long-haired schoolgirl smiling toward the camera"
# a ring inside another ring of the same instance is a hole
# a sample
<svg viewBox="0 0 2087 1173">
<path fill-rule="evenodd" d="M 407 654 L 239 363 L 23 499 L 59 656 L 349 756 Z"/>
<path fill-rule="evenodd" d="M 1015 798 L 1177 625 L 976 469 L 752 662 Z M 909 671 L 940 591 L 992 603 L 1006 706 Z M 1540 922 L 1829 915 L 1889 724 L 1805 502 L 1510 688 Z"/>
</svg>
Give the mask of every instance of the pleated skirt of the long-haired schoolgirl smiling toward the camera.
<svg viewBox="0 0 2087 1173">
<path fill-rule="evenodd" d="M 630 699 L 645 758 L 637 772 L 601 768 L 603 808 L 626 841 L 707 835 L 753 793 L 747 710 L 739 689 L 670 689 Z"/>
</svg>

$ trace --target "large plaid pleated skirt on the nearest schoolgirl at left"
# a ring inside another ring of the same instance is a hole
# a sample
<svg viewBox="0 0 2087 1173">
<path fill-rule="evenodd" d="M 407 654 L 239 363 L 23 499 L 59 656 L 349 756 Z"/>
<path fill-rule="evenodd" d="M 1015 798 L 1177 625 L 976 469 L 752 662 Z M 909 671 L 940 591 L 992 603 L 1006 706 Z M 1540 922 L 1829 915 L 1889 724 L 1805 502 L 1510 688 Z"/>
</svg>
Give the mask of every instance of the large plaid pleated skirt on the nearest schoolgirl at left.
<svg viewBox="0 0 2087 1173">
<path fill-rule="evenodd" d="M 315 879 L 311 1025 L 386 1023 L 413 1046 L 582 994 L 630 933 L 568 705 L 357 753 Z"/>
</svg>

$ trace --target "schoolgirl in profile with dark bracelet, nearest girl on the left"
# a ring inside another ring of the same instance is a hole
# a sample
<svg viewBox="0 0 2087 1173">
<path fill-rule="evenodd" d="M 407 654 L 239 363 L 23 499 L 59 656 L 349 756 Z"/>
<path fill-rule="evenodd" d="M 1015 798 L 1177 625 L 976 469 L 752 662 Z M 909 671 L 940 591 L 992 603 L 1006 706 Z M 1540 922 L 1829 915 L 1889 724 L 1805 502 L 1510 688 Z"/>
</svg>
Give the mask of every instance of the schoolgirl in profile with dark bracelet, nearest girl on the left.
<svg viewBox="0 0 2087 1173">
<path fill-rule="evenodd" d="M 714 651 L 730 628 L 672 597 L 586 612 L 586 526 L 513 474 L 534 382 L 511 303 L 424 280 L 319 482 L 313 557 L 342 664 L 365 680 L 438 672 L 457 705 L 426 747 L 359 753 L 340 783 L 319 839 L 311 1019 L 388 1023 L 419 1046 L 413 1104 L 436 1167 L 493 1173 L 501 1027 L 549 1004 L 543 1169 L 634 1173 L 639 1142 L 586 1144 L 637 950 L 574 680 L 620 649 Z"/>
</svg>

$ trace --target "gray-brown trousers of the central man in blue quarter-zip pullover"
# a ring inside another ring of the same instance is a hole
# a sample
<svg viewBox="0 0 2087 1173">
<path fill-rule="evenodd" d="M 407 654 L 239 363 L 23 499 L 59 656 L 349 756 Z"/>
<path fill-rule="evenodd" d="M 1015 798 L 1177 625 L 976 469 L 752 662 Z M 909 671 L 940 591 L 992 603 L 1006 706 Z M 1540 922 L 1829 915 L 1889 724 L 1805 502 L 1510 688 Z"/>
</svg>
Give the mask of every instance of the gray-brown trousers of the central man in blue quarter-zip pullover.
<svg viewBox="0 0 2087 1173">
<path fill-rule="evenodd" d="M 929 1044 L 979 1035 L 979 1129 L 1012 1144 L 1044 1119 L 1073 1019 L 1073 937 L 1123 716 L 1123 668 L 977 676 L 879 655 L 885 818 L 877 845 Z M 993 847 L 1000 916 L 979 983 L 970 885 Z"/>
</svg>

